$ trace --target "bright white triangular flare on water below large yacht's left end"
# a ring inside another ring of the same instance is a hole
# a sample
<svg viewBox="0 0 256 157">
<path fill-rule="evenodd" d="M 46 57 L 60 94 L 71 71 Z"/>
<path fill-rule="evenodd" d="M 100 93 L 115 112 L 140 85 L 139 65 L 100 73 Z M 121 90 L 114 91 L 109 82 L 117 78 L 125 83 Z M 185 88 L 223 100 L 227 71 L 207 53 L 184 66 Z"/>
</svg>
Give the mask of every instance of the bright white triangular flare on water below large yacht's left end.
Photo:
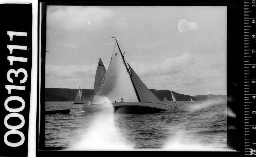
<svg viewBox="0 0 256 157">
<path fill-rule="evenodd" d="M 105 110 L 95 113 L 92 120 L 94 122 L 88 130 L 84 130 L 81 141 L 66 150 L 132 150 L 134 148 L 115 126 L 114 107 L 111 103 L 108 103 Z"/>
</svg>

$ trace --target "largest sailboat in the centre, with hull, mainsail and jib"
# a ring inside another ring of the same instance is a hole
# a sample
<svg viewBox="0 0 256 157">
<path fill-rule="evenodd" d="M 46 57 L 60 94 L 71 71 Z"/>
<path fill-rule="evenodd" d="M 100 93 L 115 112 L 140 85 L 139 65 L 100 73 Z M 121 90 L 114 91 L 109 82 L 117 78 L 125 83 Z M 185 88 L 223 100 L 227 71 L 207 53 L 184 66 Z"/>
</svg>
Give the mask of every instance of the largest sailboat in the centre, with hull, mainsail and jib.
<svg viewBox="0 0 256 157">
<path fill-rule="evenodd" d="M 108 70 L 100 87 L 85 112 L 95 112 L 108 106 L 122 113 L 155 113 L 168 111 L 170 105 L 163 104 L 140 80 L 132 67 L 126 62 L 117 40 L 112 52 Z"/>
</svg>

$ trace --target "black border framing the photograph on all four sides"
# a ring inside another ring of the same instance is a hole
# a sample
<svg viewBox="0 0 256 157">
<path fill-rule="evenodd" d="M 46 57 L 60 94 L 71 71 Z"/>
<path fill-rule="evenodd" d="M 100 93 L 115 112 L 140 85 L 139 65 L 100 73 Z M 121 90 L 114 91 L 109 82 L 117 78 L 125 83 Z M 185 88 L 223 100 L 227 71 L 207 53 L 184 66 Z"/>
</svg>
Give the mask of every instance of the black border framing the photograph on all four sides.
<svg viewBox="0 0 256 157">
<path fill-rule="evenodd" d="M 40 3 L 42 14 L 40 15 Z M 236 130 L 227 129 L 228 146 L 235 148 L 234 152 L 210 152 L 210 151 L 62 151 L 64 147 L 45 147 L 45 51 L 46 51 L 46 6 L 47 5 L 90 5 L 90 6 L 227 6 L 227 107 L 234 110 L 236 119 L 227 117 L 227 128 L 234 125 Z M 41 36 L 40 33 L 41 19 Z M 41 37 L 41 56 L 38 55 L 38 92 L 37 92 L 37 134 L 36 155 L 174 155 L 174 156 L 216 156 L 232 155 L 242 156 L 243 148 L 243 1 L 214 1 L 214 0 L 184 0 L 184 1 L 38 1 L 38 39 Z M 38 40 L 38 54 L 40 45 Z M 43 53 L 44 52 L 44 53 Z M 41 62 L 40 62 L 41 61 Z M 41 71 L 39 67 L 41 66 Z M 41 76 L 41 77 L 40 77 Z M 41 82 L 39 82 L 41 79 Z M 40 94 L 39 94 L 40 93 Z M 40 104 L 41 102 L 41 104 Z M 39 106 L 40 104 L 40 106 Z M 43 114 L 41 114 L 43 113 Z M 39 130 L 39 128 L 41 128 Z"/>
</svg>

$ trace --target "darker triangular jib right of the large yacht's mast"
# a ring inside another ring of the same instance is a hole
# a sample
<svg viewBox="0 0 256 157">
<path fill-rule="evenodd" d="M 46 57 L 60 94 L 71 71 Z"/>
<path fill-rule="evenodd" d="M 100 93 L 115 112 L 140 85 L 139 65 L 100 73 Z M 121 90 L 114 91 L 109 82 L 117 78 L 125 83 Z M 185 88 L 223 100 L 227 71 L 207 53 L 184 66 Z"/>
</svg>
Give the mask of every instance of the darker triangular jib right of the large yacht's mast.
<svg viewBox="0 0 256 157">
<path fill-rule="evenodd" d="M 139 99 L 141 102 L 151 102 L 151 103 L 160 103 L 162 102 L 154 95 L 146 85 L 140 80 L 139 76 L 135 73 L 132 67 L 128 64 L 129 70 L 131 72 L 131 77 L 135 86 L 135 90 L 137 90 Z"/>
</svg>

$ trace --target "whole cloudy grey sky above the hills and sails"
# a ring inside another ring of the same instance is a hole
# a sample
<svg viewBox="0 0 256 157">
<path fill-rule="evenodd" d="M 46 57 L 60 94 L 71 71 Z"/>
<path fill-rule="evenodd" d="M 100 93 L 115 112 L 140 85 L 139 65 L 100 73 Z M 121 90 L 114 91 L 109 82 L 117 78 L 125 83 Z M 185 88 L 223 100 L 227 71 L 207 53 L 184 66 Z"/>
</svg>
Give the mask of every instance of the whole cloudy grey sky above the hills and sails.
<svg viewBox="0 0 256 157">
<path fill-rule="evenodd" d="M 47 6 L 46 88 L 94 89 L 115 36 L 150 89 L 226 95 L 226 6 Z"/>
</svg>

